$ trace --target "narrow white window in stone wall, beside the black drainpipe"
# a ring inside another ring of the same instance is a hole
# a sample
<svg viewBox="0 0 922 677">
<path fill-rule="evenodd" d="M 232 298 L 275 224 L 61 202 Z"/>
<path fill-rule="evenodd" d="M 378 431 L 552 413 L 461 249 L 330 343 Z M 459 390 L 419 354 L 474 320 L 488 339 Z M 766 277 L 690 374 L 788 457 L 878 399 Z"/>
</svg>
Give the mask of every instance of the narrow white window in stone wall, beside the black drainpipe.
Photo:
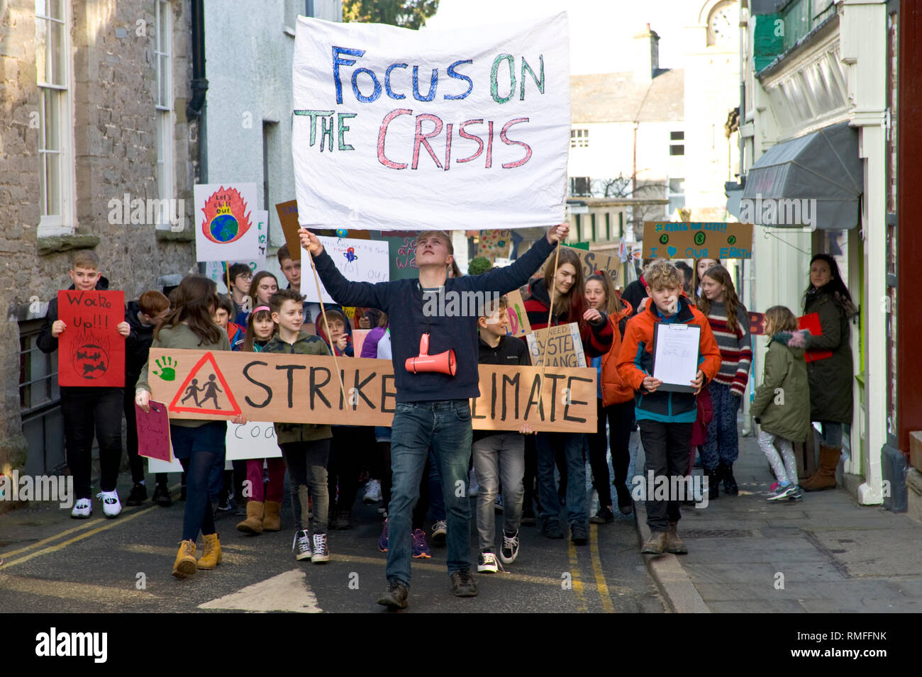
<svg viewBox="0 0 922 677">
<path fill-rule="evenodd" d="M 166 28 L 161 30 L 161 19 Z M 175 175 L 173 163 L 173 113 L 172 113 L 172 14 L 170 0 L 155 0 L 155 40 L 154 61 L 157 72 L 157 96 L 155 97 L 155 115 L 157 117 L 157 193 L 160 200 L 172 200 L 175 197 Z M 161 62 L 166 66 L 161 67 Z M 163 80 L 166 80 L 165 87 Z M 160 99 L 161 90 L 166 90 L 166 100 Z M 161 176 L 162 174 L 162 176 Z M 171 210 L 172 213 L 172 210 Z M 170 230 L 171 223 L 160 223 L 161 210 L 158 210 L 159 230 Z M 183 215 L 179 215 L 182 217 Z"/>
</svg>

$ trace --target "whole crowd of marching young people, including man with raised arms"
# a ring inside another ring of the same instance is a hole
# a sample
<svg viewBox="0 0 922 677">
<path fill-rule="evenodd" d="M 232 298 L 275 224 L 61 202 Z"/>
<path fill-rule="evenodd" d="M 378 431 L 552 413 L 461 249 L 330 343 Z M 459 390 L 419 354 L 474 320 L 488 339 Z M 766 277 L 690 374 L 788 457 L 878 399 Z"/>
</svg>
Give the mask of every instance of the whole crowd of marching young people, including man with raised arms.
<svg viewBox="0 0 922 677">
<path fill-rule="evenodd" d="M 459 496 L 454 488 L 457 482 L 468 483 L 471 466 L 479 482 L 474 521 L 477 570 L 482 573 L 514 563 L 520 528 L 533 523 L 536 511 L 543 535 L 561 539 L 567 527 L 576 545 L 587 542 L 589 522 L 613 521 L 615 506 L 622 514 L 631 514 L 629 439 L 638 426 L 644 471 L 657 476 L 686 475 L 697 446 L 711 496 L 717 496 L 720 482 L 727 495 L 736 495 L 732 466 L 739 454 L 737 412 L 747 391 L 752 352 L 749 315 L 739 303 L 731 274 L 716 260 L 697 261 L 693 268 L 686 266 L 687 272 L 666 260 L 648 260 L 639 280 L 619 293 L 603 272 L 596 271 L 584 280 L 582 262 L 572 250 L 564 249 L 556 266 L 546 264 L 544 273 L 528 282 L 542 263 L 553 261 L 549 254 L 565 236 L 565 226 L 551 228 L 546 239 L 540 239 L 513 265 L 463 276 L 454 270 L 451 239 L 441 231 L 428 231 L 418 243 L 419 280 L 371 285 L 346 281 L 319 240 L 301 231 L 301 243 L 313 254 L 318 274 L 333 298 L 356 307 L 354 329 L 360 328 L 360 319 L 362 328 L 372 329 L 361 357 L 394 361 L 394 424 L 372 428 L 276 422 L 281 458 L 266 460 L 265 471 L 264 460 L 258 459 L 237 461 L 233 473 L 224 473 L 225 423 L 171 420 L 173 453 L 184 470 L 185 499 L 182 544 L 173 575 L 184 578 L 220 563 L 216 508 L 232 509 L 233 500 L 243 509 L 246 499 L 239 531 L 279 531 L 286 469 L 295 519 L 292 550 L 298 560 L 321 563 L 330 559 L 327 530 L 351 528 L 360 477 L 367 481 L 363 500 L 383 501 L 379 511 L 384 512 L 384 523 L 377 544 L 388 556 L 388 588 L 379 602 L 390 608 L 406 606 L 409 557 L 431 556 L 423 531 L 430 509 L 431 539 L 448 546 L 447 566 L 455 595 L 477 594 L 467 554 L 467 491 Z M 160 367 L 148 364 L 151 347 L 315 356 L 330 355 L 332 349 L 337 356 L 354 356 L 353 327 L 345 309 L 328 306 L 321 315 L 314 304 L 304 301 L 298 291 L 301 262 L 291 260 L 287 246 L 279 249 L 278 263 L 288 288 L 279 289 L 271 273 L 252 274 L 247 266 L 233 264 L 227 271 L 227 296 L 219 295 L 206 277 L 193 274 L 183 279 L 170 298 L 151 290 L 126 304 L 125 321 L 115 328 L 126 344 L 124 389 L 61 389 L 67 463 L 77 492 L 73 517 L 88 518 L 92 513 L 90 448 L 94 435 L 100 447 L 98 496 L 103 512 L 115 517 L 122 510 L 115 490 L 122 411 L 133 481 L 126 502 L 137 506 L 148 498 L 144 463 L 137 449 L 135 404 L 149 410 L 149 374 Z M 70 277 L 72 289 L 108 288 L 91 251 L 73 256 Z M 505 297 L 484 304 L 476 318 L 456 322 L 432 321 L 418 312 L 427 294 L 453 289 L 505 294 L 526 284 L 532 330 L 567 322 L 579 327 L 585 355 L 598 376 L 597 429 L 593 433 L 539 432 L 533 436 L 527 424 L 518 431 L 472 431 L 467 402 L 477 394 L 477 364 L 528 365 L 526 343 L 507 335 Z M 412 303 L 412 298 L 420 303 Z M 665 389 L 653 376 L 658 323 L 681 323 L 700 330 L 698 371 L 685 391 Z M 41 350 L 55 350 L 66 329 L 52 301 L 39 338 Z M 402 367 L 408 357 L 416 355 L 423 331 L 429 333 L 431 354 L 449 347 L 455 350 L 455 375 L 411 377 Z M 800 492 L 792 444 L 810 434 L 804 355 L 811 337 L 798 331 L 794 313 L 781 306 L 766 311 L 765 335 L 769 349 L 751 414 L 761 426 L 759 445 L 777 478 L 767 497 L 797 500 Z M 203 384 L 200 390 L 204 398 L 219 394 L 216 383 Z M 783 392 L 780 400 L 779 390 Z M 714 412 L 709 423 L 701 420 L 705 400 Z M 245 423 L 242 416 L 232 420 Z M 702 428 L 706 433 L 701 444 L 693 446 L 696 422 L 706 426 Z M 613 478 L 609 477 L 609 454 Z M 598 510 L 591 518 L 585 496 L 587 460 L 598 496 Z M 165 475 L 157 476 L 152 498 L 163 506 L 171 504 Z M 668 500 L 648 497 L 646 505 L 651 535 L 642 552 L 687 552 L 678 533 L 680 501 L 675 496 Z M 502 533 L 497 540 L 494 511 L 500 506 Z M 196 560 L 199 532 L 204 545 Z"/>
</svg>

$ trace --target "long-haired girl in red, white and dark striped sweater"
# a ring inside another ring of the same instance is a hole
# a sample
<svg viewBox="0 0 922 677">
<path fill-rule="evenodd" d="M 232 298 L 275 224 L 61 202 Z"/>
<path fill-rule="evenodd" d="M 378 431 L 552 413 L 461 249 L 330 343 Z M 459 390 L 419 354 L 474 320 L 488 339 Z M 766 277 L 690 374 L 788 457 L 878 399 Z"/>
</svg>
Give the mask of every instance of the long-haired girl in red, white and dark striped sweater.
<svg viewBox="0 0 922 677">
<path fill-rule="evenodd" d="M 736 496 L 739 489 L 733 477 L 733 462 L 739 456 L 737 411 L 749 381 L 752 347 L 749 313 L 739 303 L 733 278 L 724 266 L 712 266 L 702 275 L 698 309 L 711 324 L 721 359 L 720 371 L 707 387 L 714 403 L 714 419 L 707 426 L 701 463 L 711 497 L 717 497 L 721 480 L 724 493 Z"/>
</svg>

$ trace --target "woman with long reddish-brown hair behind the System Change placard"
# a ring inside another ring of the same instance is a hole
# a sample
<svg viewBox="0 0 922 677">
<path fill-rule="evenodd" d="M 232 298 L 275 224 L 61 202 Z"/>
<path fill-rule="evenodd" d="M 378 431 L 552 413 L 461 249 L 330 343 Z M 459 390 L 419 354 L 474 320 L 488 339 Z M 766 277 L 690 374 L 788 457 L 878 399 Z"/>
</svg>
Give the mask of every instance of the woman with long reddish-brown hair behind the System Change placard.
<svg viewBox="0 0 922 677">
<path fill-rule="evenodd" d="M 595 308 L 587 308 L 583 288 L 583 263 L 579 257 L 561 247 L 555 270 L 552 260 L 545 263 L 544 275 L 528 286 L 525 302 L 532 330 L 576 322 L 587 357 L 605 355 L 611 347 L 612 330 L 607 316 Z M 551 310 L 550 293 L 554 300 Z M 559 523 L 561 504 L 554 485 L 554 460 L 558 449 L 567 463 L 567 520 L 571 539 L 576 545 L 588 540 L 588 515 L 585 506 L 585 461 L 583 433 L 538 433 L 538 500 L 541 504 L 541 532 L 548 538 L 563 538 Z"/>
</svg>

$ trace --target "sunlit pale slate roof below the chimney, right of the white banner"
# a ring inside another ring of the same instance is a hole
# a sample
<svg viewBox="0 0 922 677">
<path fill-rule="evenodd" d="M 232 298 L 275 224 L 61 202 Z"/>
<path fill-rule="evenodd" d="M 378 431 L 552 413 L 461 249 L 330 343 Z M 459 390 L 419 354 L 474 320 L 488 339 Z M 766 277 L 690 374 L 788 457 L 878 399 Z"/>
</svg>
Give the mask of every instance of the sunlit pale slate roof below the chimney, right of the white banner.
<svg viewBox="0 0 922 677">
<path fill-rule="evenodd" d="M 634 79 L 631 72 L 571 76 L 570 110 L 574 124 L 630 123 L 638 119 L 637 111 L 642 123 L 682 121 L 685 71 L 661 69 L 649 82 Z"/>
</svg>

